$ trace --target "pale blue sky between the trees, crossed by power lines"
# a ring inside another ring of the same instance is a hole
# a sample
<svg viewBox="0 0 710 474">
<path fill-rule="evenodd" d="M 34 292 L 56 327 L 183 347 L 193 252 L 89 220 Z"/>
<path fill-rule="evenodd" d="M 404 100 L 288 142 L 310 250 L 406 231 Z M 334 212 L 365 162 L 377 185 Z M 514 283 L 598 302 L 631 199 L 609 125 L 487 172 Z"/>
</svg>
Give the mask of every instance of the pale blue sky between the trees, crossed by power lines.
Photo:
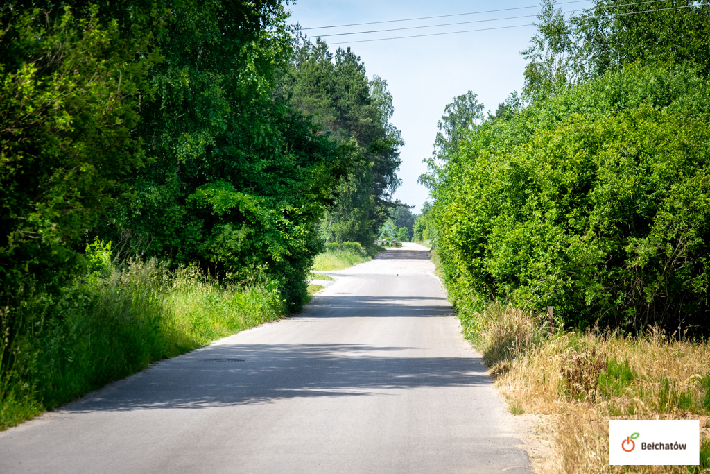
<svg viewBox="0 0 710 474">
<path fill-rule="evenodd" d="M 585 1 L 561 6 L 564 7 L 564 11 L 567 11 L 589 7 L 591 3 Z M 539 0 L 439 0 L 437 2 L 300 0 L 288 6 L 288 9 L 291 11 L 291 23 L 300 23 L 302 28 L 311 28 L 509 9 L 537 4 Z M 305 30 L 305 33 L 315 37 L 319 34 L 535 15 L 538 11 L 540 9 L 536 7 L 422 21 Z M 395 114 L 392 121 L 402 131 L 405 141 L 401 151 L 402 165 L 399 172 L 403 183 L 395 193 L 395 198 L 410 205 L 417 205 L 413 212 L 421 209 L 421 205 L 429 195 L 427 188 L 417 184 L 417 177 L 426 171 L 426 165 L 422 160 L 432 153 L 437 120 L 441 118 L 444 107 L 452 101 L 453 97 L 472 90 L 479 96 L 479 102 L 486 105 L 486 109 L 495 111 L 498 104 L 503 102 L 510 92 L 520 91 L 523 87 L 525 68 L 525 61 L 520 51 L 528 47 L 528 41 L 535 33 L 535 28 L 525 26 L 371 43 L 352 42 L 370 38 L 523 25 L 534 21 L 535 18 L 515 18 L 506 21 L 324 38 L 332 46 L 332 51 L 337 45 L 351 46 L 354 53 L 364 60 L 368 77 L 378 75 L 387 80 L 388 89 L 394 97 Z"/>
</svg>

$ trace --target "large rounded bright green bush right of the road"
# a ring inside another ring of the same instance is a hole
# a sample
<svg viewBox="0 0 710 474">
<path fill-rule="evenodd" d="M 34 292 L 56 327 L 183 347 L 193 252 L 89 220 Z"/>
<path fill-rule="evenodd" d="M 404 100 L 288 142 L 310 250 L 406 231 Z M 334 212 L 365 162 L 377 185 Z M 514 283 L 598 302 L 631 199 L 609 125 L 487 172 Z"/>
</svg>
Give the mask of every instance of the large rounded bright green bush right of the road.
<svg viewBox="0 0 710 474">
<path fill-rule="evenodd" d="M 454 301 L 706 328 L 709 95 L 692 70 L 626 68 L 469 133 L 431 211 Z"/>
</svg>

